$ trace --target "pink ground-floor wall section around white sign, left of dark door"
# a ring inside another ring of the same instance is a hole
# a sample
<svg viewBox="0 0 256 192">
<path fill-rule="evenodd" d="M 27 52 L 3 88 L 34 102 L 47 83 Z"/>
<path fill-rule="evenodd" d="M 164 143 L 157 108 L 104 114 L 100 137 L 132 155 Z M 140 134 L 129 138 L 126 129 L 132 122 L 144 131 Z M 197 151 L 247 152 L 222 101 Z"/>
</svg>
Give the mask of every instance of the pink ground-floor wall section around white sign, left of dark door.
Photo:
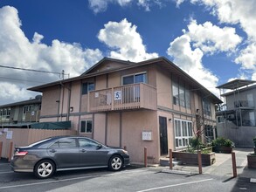
<svg viewBox="0 0 256 192">
<path fill-rule="evenodd" d="M 156 111 L 134 111 L 121 113 L 121 144 L 126 146 L 131 161 L 143 162 L 144 147 L 148 156 L 159 161 L 158 119 Z M 142 141 L 142 131 L 152 132 L 152 141 Z M 113 138 L 114 139 L 114 138 Z"/>
</svg>

